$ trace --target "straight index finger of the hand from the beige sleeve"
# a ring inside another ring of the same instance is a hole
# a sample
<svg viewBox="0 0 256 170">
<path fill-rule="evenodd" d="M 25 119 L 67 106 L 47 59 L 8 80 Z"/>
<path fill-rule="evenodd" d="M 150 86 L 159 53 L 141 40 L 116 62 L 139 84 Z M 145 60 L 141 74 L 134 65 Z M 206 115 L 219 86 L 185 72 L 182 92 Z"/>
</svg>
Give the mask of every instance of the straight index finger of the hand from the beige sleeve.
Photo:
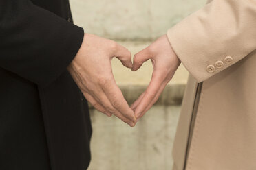
<svg viewBox="0 0 256 170">
<path fill-rule="evenodd" d="M 140 101 L 139 106 L 135 110 L 136 117 L 139 117 L 140 114 L 149 106 L 151 101 L 156 97 L 158 94 L 158 91 L 160 89 L 160 86 L 162 82 L 164 82 L 164 77 L 161 72 L 153 71 L 151 82 L 149 83 L 149 86 L 147 87 L 147 90 L 145 91 L 145 95 Z"/>
</svg>

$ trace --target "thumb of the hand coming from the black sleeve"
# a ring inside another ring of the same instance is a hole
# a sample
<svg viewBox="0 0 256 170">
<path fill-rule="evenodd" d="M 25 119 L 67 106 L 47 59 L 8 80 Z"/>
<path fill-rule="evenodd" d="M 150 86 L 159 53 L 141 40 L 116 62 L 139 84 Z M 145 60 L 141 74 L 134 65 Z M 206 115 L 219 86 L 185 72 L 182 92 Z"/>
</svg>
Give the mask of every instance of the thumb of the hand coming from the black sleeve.
<svg viewBox="0 0 256 170">
<path fill-rule="evenodd" d="M 128 49 L 126 49 L 125 47 L 122 47 L 122 45 L 117 44 L 117 50 L 116 50 L 115 57 L 118 58 L 122 62 L 122 65 L 131 69 L 131 67 L 132 67 L 131 52 Z"/>
</svg>

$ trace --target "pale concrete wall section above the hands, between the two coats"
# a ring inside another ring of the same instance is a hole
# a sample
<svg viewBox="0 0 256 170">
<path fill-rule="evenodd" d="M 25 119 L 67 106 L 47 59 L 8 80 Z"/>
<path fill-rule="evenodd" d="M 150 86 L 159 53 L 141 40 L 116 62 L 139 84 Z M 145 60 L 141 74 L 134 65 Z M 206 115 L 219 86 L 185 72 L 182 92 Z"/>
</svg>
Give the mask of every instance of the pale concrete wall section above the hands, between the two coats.
<svg viewBox="0 0 256 170">
<path fill-rule="evenodd" d="M 206 0 L 70 0 L 85 31 L 115 40 L 151 40 L 165 34 Z"/>
</svg>

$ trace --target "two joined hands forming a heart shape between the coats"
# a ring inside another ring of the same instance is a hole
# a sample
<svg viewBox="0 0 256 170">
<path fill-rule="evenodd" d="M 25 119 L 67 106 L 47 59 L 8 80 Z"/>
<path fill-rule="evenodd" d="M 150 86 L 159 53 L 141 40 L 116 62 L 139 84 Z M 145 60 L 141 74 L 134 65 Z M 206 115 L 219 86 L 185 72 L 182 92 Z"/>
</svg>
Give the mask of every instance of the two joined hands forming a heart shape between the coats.
<svg viewBox="0 0 256 170">
<path fill-rule="evenodd" d="M 113 58 L 118 58 L 122 65 L 132 71 L 137 71 L 149 59 L 153 64 L 147 90 L 130 107 L 115 82 L 111 67 Z M 114 114 L 134 126 L 157 101 L 179 65 L 180 60 L 175 55 L 167 35 L 138 52 L 132 63 L 131 53 L 125 47 L 113 40 L 85 34 L 81 48 L 67 69 L 94 108 L 109 117 Z"/>
</svg>

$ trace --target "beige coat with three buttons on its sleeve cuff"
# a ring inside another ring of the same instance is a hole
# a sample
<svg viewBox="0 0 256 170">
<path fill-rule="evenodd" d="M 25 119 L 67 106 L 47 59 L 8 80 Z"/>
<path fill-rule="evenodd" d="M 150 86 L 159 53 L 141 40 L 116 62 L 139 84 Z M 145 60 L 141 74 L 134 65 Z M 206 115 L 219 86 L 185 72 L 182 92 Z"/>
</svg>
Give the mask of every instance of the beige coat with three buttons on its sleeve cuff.
<svg viewBox="0 0 256 170">
<path fill-rule="evenodd" d="M 173 169 L 255 170 L 256 0 L 209 1 L 167 35 L 191 73 Z"/>
</svg>

